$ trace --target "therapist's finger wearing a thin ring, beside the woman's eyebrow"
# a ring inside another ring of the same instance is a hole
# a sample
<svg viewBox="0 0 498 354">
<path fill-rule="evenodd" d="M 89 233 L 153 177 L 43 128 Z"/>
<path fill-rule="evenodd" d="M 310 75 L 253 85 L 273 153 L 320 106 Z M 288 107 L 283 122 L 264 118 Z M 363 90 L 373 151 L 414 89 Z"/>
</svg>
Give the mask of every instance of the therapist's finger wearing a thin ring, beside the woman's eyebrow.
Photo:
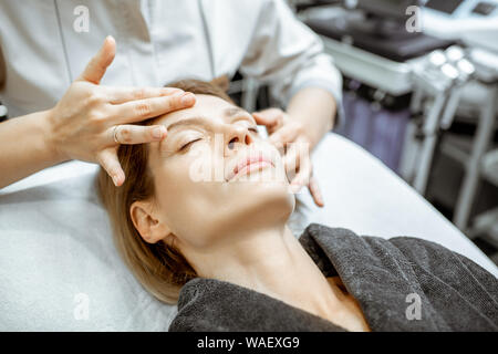
<svg viewBox="0 0 498 354">
<path fill-rule="evenodd" d="M 127 145 L 159 142 L 167 135 L 164 125 L 120 125 L 108 129 L 113 143 L 115 143 L 114 133 L 116 133 L 115 137 L 120 144 Z"/>
</svg>

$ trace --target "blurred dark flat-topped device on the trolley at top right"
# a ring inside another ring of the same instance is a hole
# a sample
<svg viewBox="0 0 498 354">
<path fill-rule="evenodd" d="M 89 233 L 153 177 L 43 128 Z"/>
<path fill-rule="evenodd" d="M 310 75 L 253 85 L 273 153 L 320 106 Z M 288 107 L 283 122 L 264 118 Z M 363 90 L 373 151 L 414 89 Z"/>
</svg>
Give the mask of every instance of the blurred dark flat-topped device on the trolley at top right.
<svg viewBox="0 0 498 354">
<path fill-rule="evenodd" d="M 406 7 L 416 3 L 418 2 L 345 1 L 345 9 L 336 6 L 309 9 L 302 18 L 324 38 L 400 64 L 453 43 L 416 29 L 407 30 L 409 17 Z"/>
</svg>

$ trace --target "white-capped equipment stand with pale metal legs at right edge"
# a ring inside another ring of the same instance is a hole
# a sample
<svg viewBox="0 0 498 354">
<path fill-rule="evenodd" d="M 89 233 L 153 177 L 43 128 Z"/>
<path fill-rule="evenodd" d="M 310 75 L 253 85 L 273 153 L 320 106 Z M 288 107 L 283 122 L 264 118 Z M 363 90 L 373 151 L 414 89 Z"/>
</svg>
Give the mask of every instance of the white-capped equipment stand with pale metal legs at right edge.
<svg viewBox="0 0 498 354">
<path fill-rule="evenodd" d="M 480 115 L 476 138 L 468 162 L 465 162 L 466 175 L 455 208 L 454 221 L 463 230 L 467 228 L 483 170 L 481 159 L 494 133 L 498 100 L 497 63 L 498 55 L 489 51 L 464 51 L 453 46 L 445 53 L 432 53 L 423 65 L 414 70 L 417 88 L 414 93 L 413 111 L 422 108 L 422 96 L 434 97 L 430 108 L 425 111 L 426 118 L 421 132 L 423 145 L 414 179 L 414 186 L 421 194 L 425 192 L 437 133 L 452 125 L 463 90 L 468 83 L 477 83 L 484 91 L 484 100 L 478 103 Z"/>
</svg>

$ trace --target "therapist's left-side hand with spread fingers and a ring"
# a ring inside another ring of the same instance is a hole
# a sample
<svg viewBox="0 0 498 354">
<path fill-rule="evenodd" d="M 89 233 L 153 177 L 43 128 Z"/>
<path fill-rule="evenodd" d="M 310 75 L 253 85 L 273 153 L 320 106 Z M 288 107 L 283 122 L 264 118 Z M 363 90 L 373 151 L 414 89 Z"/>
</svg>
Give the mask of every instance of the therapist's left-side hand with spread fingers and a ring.
<svg viewBox="0 0 498 354">
<path fill-rule="evenodd" d="M 98 53 L 49 111 L 48 144 L 62 159 L 98 163 L 116 186 L 125 176 L 117 159 L 120 144 L 144 144 L 163 139 L 163 125 L 133 123 L 186 108 L 195 96 L 173 87 L 101 86 L 114 60 L 116 43 L 107 37 Z M 116 142 L 117 139 L 117 142 Z"/>
</svg>

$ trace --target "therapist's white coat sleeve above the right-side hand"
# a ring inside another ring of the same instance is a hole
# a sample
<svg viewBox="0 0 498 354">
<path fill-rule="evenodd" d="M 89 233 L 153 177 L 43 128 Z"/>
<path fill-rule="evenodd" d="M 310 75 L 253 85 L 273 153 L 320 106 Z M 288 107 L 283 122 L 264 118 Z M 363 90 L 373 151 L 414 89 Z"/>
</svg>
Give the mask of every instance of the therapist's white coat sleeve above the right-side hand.
<svg viewBox="0 0 498 354">
<path fill-rule="evenodd" d="M 342 77 L 321 39 L 299 21 L 283 0 L 267 0 L 260 8 L 252 39 L 240 66 L 243 75 L 270 87 L 282 107 L 303 87 L 329 91 L 342 123 Z"/>
</svg>

